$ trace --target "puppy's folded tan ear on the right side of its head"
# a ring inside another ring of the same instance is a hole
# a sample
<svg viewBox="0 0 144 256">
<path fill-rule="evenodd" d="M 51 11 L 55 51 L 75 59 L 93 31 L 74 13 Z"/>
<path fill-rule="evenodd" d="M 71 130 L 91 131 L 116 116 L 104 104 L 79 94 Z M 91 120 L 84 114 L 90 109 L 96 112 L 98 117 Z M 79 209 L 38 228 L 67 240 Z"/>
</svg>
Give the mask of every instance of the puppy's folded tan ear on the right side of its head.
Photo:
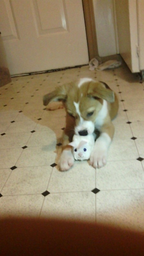
<svg viewBox="0 0 144 256">
<path fill-rule="evenodd" d="M 90 82 L 87 95 L 89 97 L 98 97 L 107 100 L 110 103 L 115 101 L 114 92 L 111 89 L 106 88 L 105 85 L 100 82 Z"/>
</svg>

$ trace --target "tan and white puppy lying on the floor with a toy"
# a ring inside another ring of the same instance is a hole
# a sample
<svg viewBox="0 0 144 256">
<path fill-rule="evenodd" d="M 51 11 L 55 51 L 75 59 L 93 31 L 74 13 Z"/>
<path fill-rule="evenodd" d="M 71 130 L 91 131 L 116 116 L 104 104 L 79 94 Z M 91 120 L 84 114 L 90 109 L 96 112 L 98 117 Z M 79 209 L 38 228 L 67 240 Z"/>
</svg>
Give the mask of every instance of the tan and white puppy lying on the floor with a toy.
<svg viewBox="0 0 144 256">
<path fill-rule="evenodd" d="M 74 134 L 86 136 L 99 130 L 90 156 L 90 164 L 100 168 L 106 164 L 108 147 L 114 135 L 112 119 L 118 111 L 116 94 L 106 83 L 91 78 L 81 78 L 58 87 L 44 95 L 44 106 L 51 101 L 62 101 L 66 108 L 66 128 L 63 135 L 63 151 L 60 156 L 60 170 L 68 170 L 74 163 L 71 146 Z"/>
</svg>

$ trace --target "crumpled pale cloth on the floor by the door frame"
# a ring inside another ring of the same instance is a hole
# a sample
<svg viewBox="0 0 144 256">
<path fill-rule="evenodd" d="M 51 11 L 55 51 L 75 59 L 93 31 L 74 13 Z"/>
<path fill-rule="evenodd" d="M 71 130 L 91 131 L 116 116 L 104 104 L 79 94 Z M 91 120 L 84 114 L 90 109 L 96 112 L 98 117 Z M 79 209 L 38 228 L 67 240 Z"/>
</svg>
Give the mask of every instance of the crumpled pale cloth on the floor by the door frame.
<svg viewBox="0 0 144 256">
<path fill-rule="evenodd" d="M 118 68 L 122 62 L 116 60 L 109 60 L 101 63 L 100 57 L 93 58 L 89 62 L 89 70 L 105 70 L 105 69 L 115 69 Z"/>
</svg>

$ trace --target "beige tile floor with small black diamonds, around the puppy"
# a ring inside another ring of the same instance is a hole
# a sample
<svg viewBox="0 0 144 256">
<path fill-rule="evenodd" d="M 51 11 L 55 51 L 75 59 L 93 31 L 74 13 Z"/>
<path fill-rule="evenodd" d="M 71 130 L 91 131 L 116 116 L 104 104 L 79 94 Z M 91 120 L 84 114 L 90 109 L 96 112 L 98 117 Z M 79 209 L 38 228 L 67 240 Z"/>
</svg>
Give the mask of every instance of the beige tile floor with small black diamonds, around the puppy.
<svg viewBox="0 0 144 256">
<path fill-rule="evenodd" d="M 104 168 L 83 161 L 60 172 L 65 111 L 48 111 L 42 96 L 82 77 L 118 93 L 115 136 Z M 144 83 L 124 64 L 14 77 L 0 87 L 0 217 L 11 215 L 108 222 L 144 232 Z"/>
</svg>

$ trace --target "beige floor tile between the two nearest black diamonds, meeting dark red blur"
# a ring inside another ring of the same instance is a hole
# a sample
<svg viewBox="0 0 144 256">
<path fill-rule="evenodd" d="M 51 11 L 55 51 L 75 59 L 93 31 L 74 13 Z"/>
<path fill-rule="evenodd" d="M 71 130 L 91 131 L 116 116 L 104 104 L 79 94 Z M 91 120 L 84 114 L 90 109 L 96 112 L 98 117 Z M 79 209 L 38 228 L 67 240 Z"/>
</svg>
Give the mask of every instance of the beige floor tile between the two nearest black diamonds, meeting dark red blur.
<svg viewBox="0 0 144 256">
<path fill-rule="evenodd" d="M 95 221 L 95 194 L 92 192 L 48 194 L 44 199 L 40 216 Z"/>
</svg>

